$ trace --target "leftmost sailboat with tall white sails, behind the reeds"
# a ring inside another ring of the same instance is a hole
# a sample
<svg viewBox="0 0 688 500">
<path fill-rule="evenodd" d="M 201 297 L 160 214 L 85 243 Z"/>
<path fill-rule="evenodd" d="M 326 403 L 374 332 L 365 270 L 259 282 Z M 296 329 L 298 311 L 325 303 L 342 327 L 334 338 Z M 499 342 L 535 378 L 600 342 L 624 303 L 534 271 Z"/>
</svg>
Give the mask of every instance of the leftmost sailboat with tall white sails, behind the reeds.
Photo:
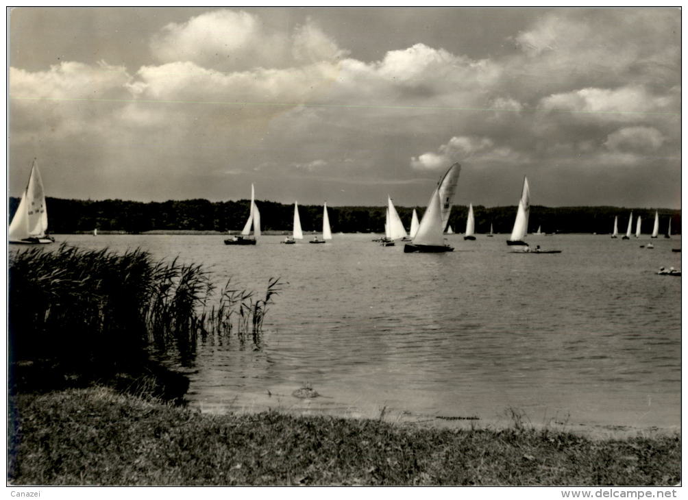
<svg viewBox="0 0 688 500">
<path fill-rule="evenodd" d="M 55 239 L 45 234 L 47 231 L 47 209 L 41 173 L 34 159 L 21 201 L 14 213 L 8 239 L 10 243 L 23 245 L 45 245 L 53 243 Z"/>
</svg>

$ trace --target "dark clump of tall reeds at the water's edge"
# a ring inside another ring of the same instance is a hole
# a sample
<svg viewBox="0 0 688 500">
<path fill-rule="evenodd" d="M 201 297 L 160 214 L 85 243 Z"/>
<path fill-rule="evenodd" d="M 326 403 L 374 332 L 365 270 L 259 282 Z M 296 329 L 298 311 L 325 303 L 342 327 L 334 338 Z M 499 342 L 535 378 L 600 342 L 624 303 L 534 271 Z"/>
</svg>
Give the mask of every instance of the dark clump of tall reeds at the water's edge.
<svg viewBox="0 0 688 500">
<path fill-rule="evenodd" d="M 58 377 L 103 380 L 147 363 L 151 348 L 193 358 L 199 336 L 247 338 L 260 346 L 266 312 L 283 283 L 264 298 L 230 286 L 216 298 L 202 265 L 61 245 L 10 254 L 8 326 L 13 367 L 41 364 Z M 64 379 L 64 380 L 63 380 Z M 17 380 L 14 380 L 17 382 Z"/>
</svg>

